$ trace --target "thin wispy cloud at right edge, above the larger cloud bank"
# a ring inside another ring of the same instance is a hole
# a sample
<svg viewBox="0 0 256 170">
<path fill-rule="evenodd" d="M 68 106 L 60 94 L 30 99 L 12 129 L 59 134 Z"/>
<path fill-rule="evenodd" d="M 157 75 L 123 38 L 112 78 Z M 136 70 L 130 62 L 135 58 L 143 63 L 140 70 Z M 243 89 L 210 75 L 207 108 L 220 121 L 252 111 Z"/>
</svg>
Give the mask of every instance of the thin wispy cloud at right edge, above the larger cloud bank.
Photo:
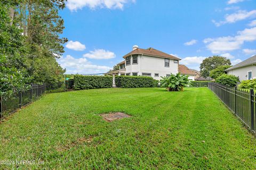
<svg viewBox="0 0 256 170">
<path fill-rule="evenodd" d="M 215 21 L 212 20 L 212 22 L 219 27 L 220 25 L 226 24 L 226 23 L 235 23 L 237 21 L 245 20 L 247 18 L 255 18 L 256 17 L 256 10 L 252 11 L 245 11 L 245 10 L 239 10 L 236 13 L 233 14 L 226 14 L 225 21 Z"/>
</svg>

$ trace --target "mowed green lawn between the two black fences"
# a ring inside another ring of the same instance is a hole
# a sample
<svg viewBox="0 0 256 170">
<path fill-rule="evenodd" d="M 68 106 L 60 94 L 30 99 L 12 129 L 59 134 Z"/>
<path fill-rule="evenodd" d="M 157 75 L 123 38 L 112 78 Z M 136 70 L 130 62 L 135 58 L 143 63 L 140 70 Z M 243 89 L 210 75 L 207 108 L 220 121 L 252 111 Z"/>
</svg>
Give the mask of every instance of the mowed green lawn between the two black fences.
<svg viewBox="0 0 256 170">
<path fill-rule="evenodd" d="M 0 161 L 36 161 L 3 169 L 256 168 L 255 138 L 207 88 L 47 94 L 0 124 L 0 148 Z"/>
</svg>

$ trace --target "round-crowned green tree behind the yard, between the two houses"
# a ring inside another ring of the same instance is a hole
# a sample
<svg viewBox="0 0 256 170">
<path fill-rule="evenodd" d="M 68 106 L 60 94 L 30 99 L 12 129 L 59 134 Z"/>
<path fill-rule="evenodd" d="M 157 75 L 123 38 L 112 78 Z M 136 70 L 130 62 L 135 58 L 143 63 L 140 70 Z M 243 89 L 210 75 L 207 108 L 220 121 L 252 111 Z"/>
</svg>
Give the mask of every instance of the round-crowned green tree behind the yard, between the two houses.
<svg viewBox="0 0 256 170">
<path fill-rule="evenodd" d="M 212 56 L 205 58 L 200 64 L 200 72 L 204 78 L 209 77 L 210 71 L 221 65 L 231 65 L 231 62 L 226 57 Z"/>
</svg>

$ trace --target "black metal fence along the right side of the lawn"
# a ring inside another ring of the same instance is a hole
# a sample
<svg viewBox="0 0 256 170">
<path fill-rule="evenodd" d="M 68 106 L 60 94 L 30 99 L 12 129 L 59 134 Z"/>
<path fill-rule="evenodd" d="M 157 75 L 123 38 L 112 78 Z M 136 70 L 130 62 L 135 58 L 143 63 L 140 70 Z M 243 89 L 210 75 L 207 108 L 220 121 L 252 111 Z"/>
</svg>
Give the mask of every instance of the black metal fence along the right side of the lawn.
<svg viewBox="0 0 256 170">
<path fill-rule="evenodd" d="M 254 134 L 256 134 L 256 96 L 253 89 L 231 88 L 219 83 L 208 83 L 220 100 L 234 113 Z"/>
</svg>

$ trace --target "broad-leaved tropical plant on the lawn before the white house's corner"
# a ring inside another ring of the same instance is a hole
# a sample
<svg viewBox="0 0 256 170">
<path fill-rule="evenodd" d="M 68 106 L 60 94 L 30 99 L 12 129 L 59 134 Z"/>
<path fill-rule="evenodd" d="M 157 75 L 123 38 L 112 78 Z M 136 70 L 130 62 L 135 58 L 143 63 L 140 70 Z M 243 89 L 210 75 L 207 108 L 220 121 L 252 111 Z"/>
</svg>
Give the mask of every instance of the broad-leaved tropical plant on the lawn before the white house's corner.
<svg viewBox="0 0 256 170">
<path fill-rule="evenodd" d="M 180 73 L 161 78 L 161 87 L 165 87 L 167 91 L 183 91 L 183 87 L 190 85 L 188 75 L 180 75 Z"/>
</svg>

